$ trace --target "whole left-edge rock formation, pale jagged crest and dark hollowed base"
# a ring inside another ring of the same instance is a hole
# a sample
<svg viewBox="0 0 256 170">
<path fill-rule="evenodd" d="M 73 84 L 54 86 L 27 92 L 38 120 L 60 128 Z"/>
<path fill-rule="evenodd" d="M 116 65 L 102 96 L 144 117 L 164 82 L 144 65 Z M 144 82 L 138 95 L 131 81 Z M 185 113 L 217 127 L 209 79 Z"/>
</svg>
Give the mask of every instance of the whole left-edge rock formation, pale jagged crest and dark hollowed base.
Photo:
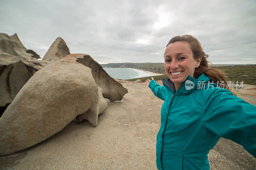
<svg viewBox="0 0 256 170">
<path fill-rule="evenodd" d="M 47 65 L 23 46 L 17 34 L 0 33 L 0 108 L 7 107 L 33 74 Z"/>
</svg>

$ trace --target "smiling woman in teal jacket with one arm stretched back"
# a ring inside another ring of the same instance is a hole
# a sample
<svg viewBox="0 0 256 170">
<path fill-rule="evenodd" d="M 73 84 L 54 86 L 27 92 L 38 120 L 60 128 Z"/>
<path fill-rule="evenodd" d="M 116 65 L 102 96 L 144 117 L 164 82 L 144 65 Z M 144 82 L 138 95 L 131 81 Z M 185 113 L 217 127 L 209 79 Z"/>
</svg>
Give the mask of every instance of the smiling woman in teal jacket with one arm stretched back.
<svg viewBox="0 0 256 170">
<path fill-rule="evenodd" d="M 225 89 L 225 74 L 210 69 L 207 57 L 193 36 L 173 37 L 164 52 L 169 78 L 164 86 L 153 78 L 145 82 L 164 100 L 156 139 L 158 169 L 210 169 L 207 154 L 220 137 L 256 157 L 256 107 Z M 220 81 L 224 88 L 216 85 Z"/>
</svg>

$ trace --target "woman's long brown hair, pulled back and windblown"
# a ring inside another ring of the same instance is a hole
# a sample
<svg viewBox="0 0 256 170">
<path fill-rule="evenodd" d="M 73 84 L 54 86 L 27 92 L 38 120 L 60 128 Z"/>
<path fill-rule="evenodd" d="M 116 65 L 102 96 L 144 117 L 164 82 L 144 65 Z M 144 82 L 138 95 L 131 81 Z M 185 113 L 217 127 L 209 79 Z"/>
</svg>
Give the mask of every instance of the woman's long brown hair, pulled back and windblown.
<svg viewBox="0 0 256 170">
<path fill-rule="evenodd" d="M 177 41 L 185 41 L 190 44 L 190 48 L 192 50 L 194 59 L 199 59 L 200 57 L 202 57 L 200 65 L 197 68 L 195 68 L 195 72 L 194 72 L 194 76 L 193 76 L 194 78 L 198 78 L 199 76 L 201 76 L 204 73 L 215 84 L 217 84 L 218 82 L 219 83 L 223 82 L 224 88 L 227 89 L 227 81 L 228 81 L 227 76 L 225 75 L 225 73 L 223 73 L 220 70 L 209 68 L 208 63 L 211 63 L 211 62 L 207 61 L 207 57 L 209 57 L 209 55 L 205 54 L 205 52 L 201 46 L 201 43 L 195 37 L 193 37 L 192 35 L 175 36 L 168 42 L 166 47 L 169 44 L 177 42 Z M 229 90 L 229 89 L 227 89 L 227 90 Z M 231 91 L 231 90 L 229 90 L 229 91 Z"/>
</svg>

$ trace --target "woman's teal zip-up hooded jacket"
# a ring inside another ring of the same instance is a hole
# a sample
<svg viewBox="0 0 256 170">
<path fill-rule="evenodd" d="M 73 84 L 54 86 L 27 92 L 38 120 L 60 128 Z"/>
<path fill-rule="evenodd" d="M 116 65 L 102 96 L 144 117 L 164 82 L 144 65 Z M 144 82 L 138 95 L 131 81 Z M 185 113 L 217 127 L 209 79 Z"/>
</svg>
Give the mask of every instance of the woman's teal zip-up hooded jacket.
<svg viewBox="0 0 256 170">
<path fill-rule="evenodd" d="M 169 78 L 163 80 L 164 86 L 150 81 L 149 88 L 164 100 L 156 137 L 158 169 L 209 170 L 207 154 L 220 137 L 256 157 L 256 106 L 214 83 L 200 88 L 207 81 L 204 74 L 198 79 L 188 76 L 177 92 Z"/>
</svg>

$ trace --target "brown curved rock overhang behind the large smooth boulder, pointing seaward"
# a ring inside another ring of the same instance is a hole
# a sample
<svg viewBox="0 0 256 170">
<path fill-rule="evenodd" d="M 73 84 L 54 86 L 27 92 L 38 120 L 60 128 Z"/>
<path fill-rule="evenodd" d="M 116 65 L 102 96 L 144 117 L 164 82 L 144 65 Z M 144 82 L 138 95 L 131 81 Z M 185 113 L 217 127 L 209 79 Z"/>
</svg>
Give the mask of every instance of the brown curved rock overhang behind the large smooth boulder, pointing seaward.
<svg viewBox="0 0 256 170">
<path fill-rule="evenodd" d="M 66 57 L 73 56 L 70 54 Z M 110 77 L 108 73 L 97 63 L 90 55 L 76 54 L 77 62 L 90 67 L 92 69 L 92 76 L 97 85 L 102 88 L 102 95 L 104 98 L 110 101 L 122 100 L 124 94 L 128 93 L 128 90 L 118 83 L 114 78 Z M 65 57 L 65 58 L 66 58 Z"/>
</svg>

